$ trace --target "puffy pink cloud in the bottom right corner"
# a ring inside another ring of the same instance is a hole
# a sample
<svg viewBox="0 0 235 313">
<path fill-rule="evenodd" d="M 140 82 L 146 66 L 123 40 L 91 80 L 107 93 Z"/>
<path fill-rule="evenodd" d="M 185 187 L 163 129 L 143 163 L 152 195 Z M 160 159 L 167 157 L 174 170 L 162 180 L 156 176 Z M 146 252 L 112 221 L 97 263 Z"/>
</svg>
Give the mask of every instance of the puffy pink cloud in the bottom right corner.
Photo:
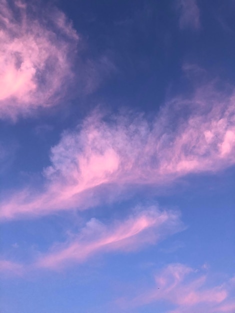
<svg viewBox="0 0 235 313">
<path fill-rule="evenodd" d="M 175 306 L 175 309 L 170 310 L 170 313 L 189 313 L 192 311 L 212 313 L 224 312 L 226 309 L 227 312 L 232 313 L 234 307 L 234 302 L 231 302 L 234 285 L 231 287 L 230 281 L 222 285 L 206 287 L 206 275 L 198 276 L 197 270 L 183 264 L 167 265 L 155 276 L 155 285 L 154 289 L 135 297 L 129 304 L 138 306 L 164 301 Z M 125 301 L 122 299 L 122 305 L 123 303 Z M 128 306 L 126 303 L 124 305 Z"/>
</svg>

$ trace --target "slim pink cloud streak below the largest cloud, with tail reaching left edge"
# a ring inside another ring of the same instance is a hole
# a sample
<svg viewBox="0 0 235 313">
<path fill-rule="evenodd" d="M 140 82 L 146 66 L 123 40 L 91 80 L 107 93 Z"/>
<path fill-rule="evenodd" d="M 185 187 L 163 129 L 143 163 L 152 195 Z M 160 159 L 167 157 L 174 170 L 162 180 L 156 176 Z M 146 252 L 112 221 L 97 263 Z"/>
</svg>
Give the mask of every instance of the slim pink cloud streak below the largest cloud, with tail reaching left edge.
<svg viewBox="0 0 235 313">
<path fill-rule="evenodd" d="M 54 243 L 48 252 L 37 251 L 31 255 L 27 264 L 1 259 L 0 272 L 15 276 L 41 269 L 61 270 L 100 253 L 143 249 L 184 229 L 177 210 L 159 209 L 156 205 L 137 206 L 122 219 L 103 223 L 91 218 L 76 233 L 69 232 L 65 242 Z"/>
</svg>

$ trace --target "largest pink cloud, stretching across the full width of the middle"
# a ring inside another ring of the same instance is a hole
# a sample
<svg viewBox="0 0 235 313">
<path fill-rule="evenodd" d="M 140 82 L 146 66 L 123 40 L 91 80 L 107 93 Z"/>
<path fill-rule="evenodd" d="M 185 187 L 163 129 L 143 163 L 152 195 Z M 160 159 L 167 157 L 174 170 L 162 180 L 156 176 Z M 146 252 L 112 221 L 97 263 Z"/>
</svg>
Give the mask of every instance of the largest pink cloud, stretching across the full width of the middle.
<svg viewBox="0 0 235 313">
<path fill-rule="evenodd" d="M 218 92 L 211 83 L 190 98 L 172 99 L 151 122 L 127 112 L 104 121 L 96 110 L 51 148 L 44 191 L 11 194 L 1 202 L 0 217 L 84 209 L 104 193 L 110 198 L 127 193 L 130 185 L 166 185 L 183 175 L 231 166 L 234 107 L 234 93 Z"/>
</svg>

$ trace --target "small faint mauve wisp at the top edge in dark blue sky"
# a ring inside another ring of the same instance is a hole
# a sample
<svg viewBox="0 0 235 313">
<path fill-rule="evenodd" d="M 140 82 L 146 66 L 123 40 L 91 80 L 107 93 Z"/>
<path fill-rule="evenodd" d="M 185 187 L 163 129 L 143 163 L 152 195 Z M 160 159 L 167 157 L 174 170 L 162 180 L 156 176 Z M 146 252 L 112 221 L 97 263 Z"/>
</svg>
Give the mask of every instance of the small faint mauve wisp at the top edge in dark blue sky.
<svg viewBox="0 0 235 313">
<path fill-rule="evenodd" d="M 196 0 L 176 0 L 179 10 L 179 27 L 198 29 L 200 27 L 200 12 Z"/>
</svg>

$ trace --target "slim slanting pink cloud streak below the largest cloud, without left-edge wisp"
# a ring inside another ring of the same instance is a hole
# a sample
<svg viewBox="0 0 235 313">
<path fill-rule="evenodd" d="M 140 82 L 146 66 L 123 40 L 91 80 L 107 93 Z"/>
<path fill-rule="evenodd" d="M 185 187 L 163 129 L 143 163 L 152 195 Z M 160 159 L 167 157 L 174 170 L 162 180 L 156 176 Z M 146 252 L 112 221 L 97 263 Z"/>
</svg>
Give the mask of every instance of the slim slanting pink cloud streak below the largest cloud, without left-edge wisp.
<svg viewBox="0 0 235 313">
<path fill-rule="evenodd" d="M 138 209 L 126 220 L 116 220 L 108 225 L 92 218 L 79 234 L 65 243 L 54 245 L 34 266 L 58 269 L 70 263 L 84 262 L 100 252 L 132 251 L 155 244 L 182 229 L 177 212 L 159 211 L 155 207 Z"/>
</svg>

